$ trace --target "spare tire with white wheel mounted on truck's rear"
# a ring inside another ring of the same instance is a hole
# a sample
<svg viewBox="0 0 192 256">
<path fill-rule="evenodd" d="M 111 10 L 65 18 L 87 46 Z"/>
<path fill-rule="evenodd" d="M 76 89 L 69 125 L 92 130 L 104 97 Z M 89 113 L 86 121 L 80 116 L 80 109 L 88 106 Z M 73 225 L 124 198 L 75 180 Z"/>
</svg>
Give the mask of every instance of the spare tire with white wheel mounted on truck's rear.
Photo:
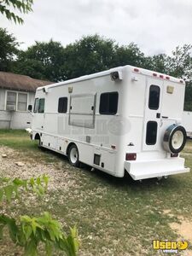
<svg viewBox="0 0 192 256">
<path fill-rule="evenodd" d="M 187 133 L 181 125 L 170 125 L 163 138 L 163 147 L 172 154 L 178 154 L 185 146 Z"/>
</svg>

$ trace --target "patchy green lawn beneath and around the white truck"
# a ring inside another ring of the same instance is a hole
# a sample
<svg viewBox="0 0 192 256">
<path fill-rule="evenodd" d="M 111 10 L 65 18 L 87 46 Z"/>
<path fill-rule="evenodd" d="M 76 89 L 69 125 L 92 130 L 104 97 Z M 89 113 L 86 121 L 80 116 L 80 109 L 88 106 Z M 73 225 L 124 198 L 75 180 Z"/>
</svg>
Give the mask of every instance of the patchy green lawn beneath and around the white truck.
<svg viewBox="0 0 192 256">
<path fill-rule="evenodd" d="M 39 151 L 24 131 L 0 131 L 0 145 L 31 155 L 33 160 L 54 163 L 70 172 L 74 187 L 50 193 L 50 201 L 32 205 L 26 212 L 49 209 L 65 224 L 77 224 L 81 237 L 80 255 L 154 255 L 154 239 L 177 239 L 170 228 L 179 216 L 191 220 L 192 172 L 134 182 L 129 177 L 116 178 L 90 168 L 77 169 L 67 159 L 50 151 Z M 192 168 L 192 142 L 183 150 L 186 166 Z M 22 205 L 20 212 L 24 211 Z M 14 210 L 14 209 L 11 209 Z M 168 215 L 165 210 L 170 210 Z M 21 213 L 22 214 L 22 213 Z M 0 248 L 1 254 L 1 248 Z"/>
</svg>

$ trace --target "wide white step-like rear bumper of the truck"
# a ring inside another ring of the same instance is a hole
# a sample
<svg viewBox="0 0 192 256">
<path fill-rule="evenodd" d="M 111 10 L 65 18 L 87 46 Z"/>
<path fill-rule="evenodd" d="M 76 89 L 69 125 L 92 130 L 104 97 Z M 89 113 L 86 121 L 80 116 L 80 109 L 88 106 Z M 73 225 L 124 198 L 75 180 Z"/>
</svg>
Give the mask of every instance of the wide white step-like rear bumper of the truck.
<svg viewBox="0 0 192 256">
<path fill-rule="evenodd" d="M 184 167 L 184 159 L 180 157 L 163 160 L 125 161 L 124 166 L 134 180 L 163 177 L 190 171 L 189 168 Z"/>
</svg>

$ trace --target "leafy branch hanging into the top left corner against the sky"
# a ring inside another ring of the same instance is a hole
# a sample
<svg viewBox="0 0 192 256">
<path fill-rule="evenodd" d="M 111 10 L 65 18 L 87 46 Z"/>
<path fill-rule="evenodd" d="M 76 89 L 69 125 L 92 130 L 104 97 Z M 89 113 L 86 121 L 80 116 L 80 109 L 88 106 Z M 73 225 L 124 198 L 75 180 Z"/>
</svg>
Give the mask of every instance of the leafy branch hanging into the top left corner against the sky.
<svg viewBox="0 0 192 256">
<path fill-rule="evenodd" d="M 33 0 L 1 0 L 0 13 L 5 15 L 8 20 L 14 20 L 15 23 L 22 24 L 23 19 L 20 16 L 15 15 L 11 9 L 18 10 L 21 14 L 26 14 L 32 11 Z"/>
</svg>

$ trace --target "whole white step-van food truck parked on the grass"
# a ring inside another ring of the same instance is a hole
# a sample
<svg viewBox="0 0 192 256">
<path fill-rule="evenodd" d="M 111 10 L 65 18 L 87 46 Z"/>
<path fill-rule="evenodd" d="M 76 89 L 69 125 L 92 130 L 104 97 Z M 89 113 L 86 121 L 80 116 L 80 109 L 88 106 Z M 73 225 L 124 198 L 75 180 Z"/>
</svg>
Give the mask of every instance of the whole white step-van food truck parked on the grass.
<svg viewBox="0 0 192 256">
<path fill-rule="evenodd" d="M 189 172 L 184 90 L 182 79 L 131 66 L 49 84 L 36 91 L 32 139 L 115 177 Z"/>
</svg>

